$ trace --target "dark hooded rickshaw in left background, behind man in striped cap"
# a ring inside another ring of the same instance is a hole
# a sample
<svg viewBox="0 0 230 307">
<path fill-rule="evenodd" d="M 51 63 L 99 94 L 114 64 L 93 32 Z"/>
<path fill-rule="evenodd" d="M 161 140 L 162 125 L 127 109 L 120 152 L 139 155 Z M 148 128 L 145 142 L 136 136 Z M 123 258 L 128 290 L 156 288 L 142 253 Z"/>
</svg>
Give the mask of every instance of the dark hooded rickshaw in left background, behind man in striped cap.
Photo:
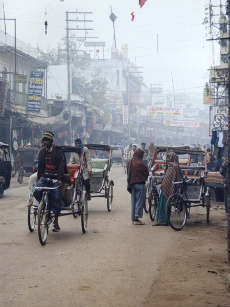
<svg viewBox="0 0 230 307">
<path fill-rule="evenodd" d="M 20 169 L 18 171 L 18 179 L 19 183 L 22 183 L 23 177 L 30 177 L 33 173 L 34 169 L 34 158 L 36 153 L 38 152 L 37 147 L 23 147 L 19 148 L 19 156 L 20 156 Z"/>
</svg>

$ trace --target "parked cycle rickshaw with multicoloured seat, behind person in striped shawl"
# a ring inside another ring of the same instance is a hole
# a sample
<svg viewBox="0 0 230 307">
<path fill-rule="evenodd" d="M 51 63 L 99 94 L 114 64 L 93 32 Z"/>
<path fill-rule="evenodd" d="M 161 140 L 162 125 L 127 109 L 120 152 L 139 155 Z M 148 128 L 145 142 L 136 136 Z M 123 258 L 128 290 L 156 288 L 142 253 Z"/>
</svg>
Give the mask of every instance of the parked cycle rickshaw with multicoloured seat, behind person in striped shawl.
<svg viewBox="0 0 230 307">
<path fill-rule="evenodd" d="M 183 176 L 179 182 L 174 182 L 177 186 L 177 191 L 167 200 L 166 214 L 169 225 L 174 230 L 181 230 L 186 224 L 190 208 L 198 206 L 206 208 L 206 222 L 209 223 L 210 188 L 206 187 L 204 181 L 207 174 L 205 151 L 181 147 L 159 147 L 156 150 L 158 152 L 165 151 L 167 154 L 174 151 L 178 155 L 179 166 Z M 167 159 L 165 161 L 155 161 L 155 164 L 159 164 L 159 167 L 152 178 L 153 189 L 149 194 L 149 212 L 150 218 L 152 217 L 153 219 L 158 204 L 156 185 L 162 181 L 162 178 L 157 180 L 157 176 L 162 177 L 164 174 Z"/>
</svg>

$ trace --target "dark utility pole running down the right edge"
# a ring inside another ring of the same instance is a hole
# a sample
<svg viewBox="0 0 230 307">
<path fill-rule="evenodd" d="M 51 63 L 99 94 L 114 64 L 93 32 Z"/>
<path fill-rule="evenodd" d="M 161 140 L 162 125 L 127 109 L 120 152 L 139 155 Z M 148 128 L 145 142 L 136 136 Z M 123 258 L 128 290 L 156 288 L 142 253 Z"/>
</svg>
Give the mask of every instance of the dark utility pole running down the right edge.
<svg viewBox="0 0 230 307">
<path fill-rule="evenodd" d="M 227 0 L 228 16 L 228 75 L 227 75 L 227 93 L 228 93 L 228 140 L 230 138 L 230 0 Z M 230 262 L 230 142 L 227 144 L 227 261 Z"/>
</svg>

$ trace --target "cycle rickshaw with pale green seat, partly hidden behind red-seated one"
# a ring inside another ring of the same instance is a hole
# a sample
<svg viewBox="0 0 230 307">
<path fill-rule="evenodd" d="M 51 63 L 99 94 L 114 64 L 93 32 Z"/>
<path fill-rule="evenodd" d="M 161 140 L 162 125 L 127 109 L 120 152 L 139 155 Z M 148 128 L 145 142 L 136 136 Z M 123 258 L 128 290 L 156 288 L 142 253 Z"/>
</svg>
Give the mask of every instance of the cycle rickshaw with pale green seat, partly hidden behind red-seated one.
<svg viewBox="0 0 230 307">
<path fill-rule="evenodd" d="M 85 144 L 88 149 L 108 152 L 107 159 L 91 159 L 92 175 L 90 178 L 91 198 L 103 197 L 107 200 L 107 210 L 112 208 L 113 180 L 109 179 L 108 172 L 112 165 L 112 147 L 102 144 Z"/>
</svg>

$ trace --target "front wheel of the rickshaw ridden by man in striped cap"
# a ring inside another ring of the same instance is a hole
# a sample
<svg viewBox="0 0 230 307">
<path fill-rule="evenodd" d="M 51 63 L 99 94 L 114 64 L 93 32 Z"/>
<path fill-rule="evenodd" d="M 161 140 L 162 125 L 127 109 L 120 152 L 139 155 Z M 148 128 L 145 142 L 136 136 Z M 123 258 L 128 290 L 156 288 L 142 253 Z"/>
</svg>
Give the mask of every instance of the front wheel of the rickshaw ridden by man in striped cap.
<svg viewBox="0 0 230 307">
<path fill-rule="evenodd" d="M 40 203 L 37 212 L 38 237 L 41 245 L 44 245 L 48 235 L 48 212 L 45 209 L 45 203 Z"/>
</svg>

